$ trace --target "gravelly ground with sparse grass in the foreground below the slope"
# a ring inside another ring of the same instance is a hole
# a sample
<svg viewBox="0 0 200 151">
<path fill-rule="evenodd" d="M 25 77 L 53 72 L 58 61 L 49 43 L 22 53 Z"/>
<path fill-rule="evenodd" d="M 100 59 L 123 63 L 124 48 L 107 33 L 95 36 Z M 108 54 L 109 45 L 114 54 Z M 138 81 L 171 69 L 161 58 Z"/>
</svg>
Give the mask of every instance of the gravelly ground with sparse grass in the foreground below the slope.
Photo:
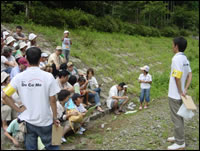
<svg viewBox="0 0 200 151">
<path fill-rule="evenodd" d="M 146 110 L 90 123 L 84 135 L 68 137 L 61 149 L 165 150 L 171 144 L 168 136 L 173 136 L 168 100 L 157 100 Z M 187 150 L 199 150 L 199 107 L 193 119 L 185 121 L 185 139 Z"/>
</svg>

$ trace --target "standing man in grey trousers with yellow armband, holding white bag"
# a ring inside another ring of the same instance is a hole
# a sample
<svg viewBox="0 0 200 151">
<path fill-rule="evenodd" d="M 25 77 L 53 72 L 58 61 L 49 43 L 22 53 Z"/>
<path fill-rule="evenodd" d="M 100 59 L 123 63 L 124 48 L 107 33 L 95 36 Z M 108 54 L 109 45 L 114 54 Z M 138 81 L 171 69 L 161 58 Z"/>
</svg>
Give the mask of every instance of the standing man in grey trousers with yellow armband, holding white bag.
<svg viewBox="0 0 200 151">
<path fill-rule="evenodd" d="M 192 80 L 192 70 L 187 57 L 183 53 L 187 47 L 187 40 L 183 37 L 173 39 L 173 52 L 171 74 L 169 81 L 169 106 L 171 111 L 171 119 L 174 123 L 174 136 L 169 137 L 169 142 L 175 142 L 168 146 L 169 150 L 178 150 L 185 148 L 184 139 L 184 120 L 177 115 L 179 108 L 182 105 L 181 96 L 186 96 L 188 87 Z"/>
</svg>

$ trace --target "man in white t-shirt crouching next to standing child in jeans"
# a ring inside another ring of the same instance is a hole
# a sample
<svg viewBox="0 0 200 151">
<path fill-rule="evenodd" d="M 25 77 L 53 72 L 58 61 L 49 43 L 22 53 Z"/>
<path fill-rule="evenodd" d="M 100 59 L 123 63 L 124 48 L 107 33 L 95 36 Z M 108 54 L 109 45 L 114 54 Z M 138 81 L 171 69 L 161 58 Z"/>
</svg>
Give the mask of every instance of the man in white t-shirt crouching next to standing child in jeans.
<svg viewBox="0 0 200 151">
<path fill-rule="evenodd" d="M 119 85 L 114 85 L 110 88 L 109 97 L 106 101 L 107 107 L 109 109 L 114 109 L 114 113 L 119 115 L 119 112 L 124 112 L 122 109 L 125 104 L 128 102 L 128 96 L 121 96 L 121 91 L 124 90 L 124 86 L 126 84 L 124 82 Z M 119 110 L 118 110 L 119 107 Z"/>
</svg>

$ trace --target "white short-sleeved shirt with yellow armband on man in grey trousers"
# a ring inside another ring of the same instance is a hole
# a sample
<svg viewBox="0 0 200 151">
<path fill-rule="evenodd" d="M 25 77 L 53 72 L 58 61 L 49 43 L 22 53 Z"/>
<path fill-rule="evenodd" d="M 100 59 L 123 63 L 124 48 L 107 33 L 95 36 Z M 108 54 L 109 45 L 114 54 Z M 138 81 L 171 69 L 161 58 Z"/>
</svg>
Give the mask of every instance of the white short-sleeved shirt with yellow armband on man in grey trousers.
<svg viewBox="0 0 200 151">
<path fill-rule="evenodd" d="M 172 58 L 171 64 L 168 97 L 176 100 L 181 99 L 176 85 L 175 77 L 181 78 L 181 89 L 184 91 L 185 82 L 189 72 L 192 72 L 190 68 L 190 62 L 187 60 L 187 57 L 184 55 L 184 53 L 179 52 L 175 54 Z"/>
</svg>

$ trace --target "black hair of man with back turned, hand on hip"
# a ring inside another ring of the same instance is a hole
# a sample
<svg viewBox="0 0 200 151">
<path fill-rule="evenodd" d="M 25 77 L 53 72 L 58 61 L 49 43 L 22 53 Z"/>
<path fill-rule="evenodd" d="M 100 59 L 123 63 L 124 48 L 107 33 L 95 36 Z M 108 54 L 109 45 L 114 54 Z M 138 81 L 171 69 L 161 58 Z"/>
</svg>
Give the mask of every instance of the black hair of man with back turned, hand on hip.
<svg viewBox="0 0 200 151">
<path fill-rule="evenodd" d="M 30 65 L 38 65 L 42 51 L 38 47 L 30 47 L 26 51 L 26 57 Z"/>
</svg>

